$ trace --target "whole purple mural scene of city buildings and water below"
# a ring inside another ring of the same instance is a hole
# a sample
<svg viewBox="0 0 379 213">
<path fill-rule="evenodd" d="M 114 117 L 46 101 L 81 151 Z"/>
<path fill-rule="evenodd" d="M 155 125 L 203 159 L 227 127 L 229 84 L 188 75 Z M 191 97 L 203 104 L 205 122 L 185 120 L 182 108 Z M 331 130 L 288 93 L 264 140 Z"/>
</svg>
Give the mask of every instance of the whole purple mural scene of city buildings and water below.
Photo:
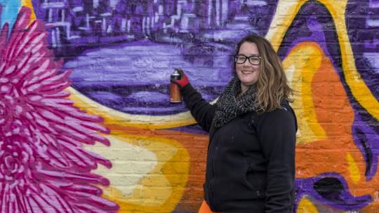
<svg viewBox="0 0 379 213">
<path fill-rule="evenodd" d="M 234 43 L 251 32 L 265 34 L 270 26 L 277 1 L 259 3 L 120 0 L 112 7 L 110 1 L 99 1 L 98 5 L 79 0 L 70 3 L 56 0 L 49 4 L 32 1 L 36 17 L 44 20 L 49 28 L 51 46 L 59 55 L 65 53 L 62 55 L 67 60 L 65 67 L 73 69 L 70 78 L 74 88 L 107 107 L 150 115 L 186 110 L 184 104 L 168 102 L 166 81 L 173 67 L 182 67 L 192 75 L 192 83 L 207 100 L 218 97 L 232 75 L 229 55 L 234 52 Z M 135 41 L 144 36 L 171 45 Z M 109 46 L 115 41 L 126 43 Z M 94 46 L 86 50 L 90 43 Z M 152 67 L 138 64 L 132 55 L 135 51 L 128 55 L 129 50 L 145 50 L 145 46 L 149 50 L 140 53 L 148 55 L 142 55 L 140 60 L 144 63 L 150 57 L 154 62 Z M 172 50 L 178 51 L 172 53 Z M 72 59 L 67 53 L 80 55 Z M 164 56 L 164 53 L 173 55 Z M 88 54 L 110 58 L 94 62 Z M 110 69 L 114 64 L 118 69 Z"/>
</svg>

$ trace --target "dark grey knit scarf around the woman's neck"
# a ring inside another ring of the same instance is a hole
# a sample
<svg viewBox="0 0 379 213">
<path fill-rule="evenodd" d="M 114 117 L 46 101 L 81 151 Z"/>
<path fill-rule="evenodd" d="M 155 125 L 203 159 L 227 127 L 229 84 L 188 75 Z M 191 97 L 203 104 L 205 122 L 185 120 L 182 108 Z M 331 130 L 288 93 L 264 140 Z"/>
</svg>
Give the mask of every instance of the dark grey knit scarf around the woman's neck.
<svg viewBox="0 0 379 213">
<path fill-rule="evenodd" d="M 252 85 L 248 90 L 237 97 L 241 92 L 241 81 L 235 76 L 228 83 L 224 92 L 217 101 L 217 110 L 213 117 L 213 125 L 215 128 L 220 128 L 225 123 L 232 121 L 241 114 L 250 111 L 255 111 L 255 97 L 257 90 L 255 85 Z"/>
</svg>

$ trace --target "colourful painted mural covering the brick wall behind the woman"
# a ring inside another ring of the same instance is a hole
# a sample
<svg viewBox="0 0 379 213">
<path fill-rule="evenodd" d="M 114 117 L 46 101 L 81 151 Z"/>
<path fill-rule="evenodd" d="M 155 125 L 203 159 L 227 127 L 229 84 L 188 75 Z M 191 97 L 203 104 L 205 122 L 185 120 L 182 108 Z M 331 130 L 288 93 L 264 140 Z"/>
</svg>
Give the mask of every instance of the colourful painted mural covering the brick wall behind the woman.
<svg viewBox="0 0 379 213">
<path fill-rule="evenodd" d="M 379 2 L 0 0 L 3 212 L 197 212 L 209 102 L 269 39 L 295 93 L 296 212 L 378 212 Z"/>
</svg>

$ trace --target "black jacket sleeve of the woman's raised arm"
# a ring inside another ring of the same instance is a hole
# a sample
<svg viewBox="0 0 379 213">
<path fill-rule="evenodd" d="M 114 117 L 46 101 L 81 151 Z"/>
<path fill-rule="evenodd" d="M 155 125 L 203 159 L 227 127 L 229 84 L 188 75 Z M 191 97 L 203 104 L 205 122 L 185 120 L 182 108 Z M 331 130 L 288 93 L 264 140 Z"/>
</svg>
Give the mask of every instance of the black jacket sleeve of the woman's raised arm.
<svg viewBox="0 0 379 213">
<path fill-rule="evenodd" d="M 183 99 L 187 105 L 189 111 L 191 111 L 192 116 L 203 130 L 209 132 L 211 128 L 213 115 L 215 114 L 215 109 L 217 109 L 216 104 L 209 104 L 201 96 L 197 90 L 195 90 L 191 84 L 185 85 L 180 92 L 182 92 Z"/>
</svg>

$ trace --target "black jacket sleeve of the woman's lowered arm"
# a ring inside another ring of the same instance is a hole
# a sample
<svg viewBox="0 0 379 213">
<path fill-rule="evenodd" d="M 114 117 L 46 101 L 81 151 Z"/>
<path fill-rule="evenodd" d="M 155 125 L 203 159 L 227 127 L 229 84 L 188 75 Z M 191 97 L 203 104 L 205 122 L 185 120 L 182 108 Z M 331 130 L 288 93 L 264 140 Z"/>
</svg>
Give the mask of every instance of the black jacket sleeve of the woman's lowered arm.
<svg viewBox="0 0 379 213">
<path fill-rule="evenodd" d="M 292 108 L 262 114 L 258 139 L 267 165 L 265 212 L 292 212 L 297 122 Z"/>
</svg>

